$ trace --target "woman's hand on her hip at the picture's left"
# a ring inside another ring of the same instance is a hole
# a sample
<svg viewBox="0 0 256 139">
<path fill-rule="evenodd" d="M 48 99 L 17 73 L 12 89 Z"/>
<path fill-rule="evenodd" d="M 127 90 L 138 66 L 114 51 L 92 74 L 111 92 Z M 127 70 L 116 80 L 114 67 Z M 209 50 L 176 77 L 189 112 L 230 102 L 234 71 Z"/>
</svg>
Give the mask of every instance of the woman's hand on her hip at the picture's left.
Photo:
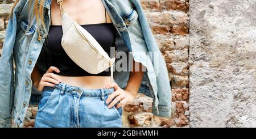
<svg viewBox="0 0 256 139">
<path fill-rule="evenodd" d="M 60 72 L 58 68 L 51 66 L 38 83 L 38 91 L 43 91 L 44 86 L 55 86 L 56 83 L 61 82 L 61 80 L 57 77 L 57 74 L 52 73 L 52 71 L 57 73 Z"/>
</svg>

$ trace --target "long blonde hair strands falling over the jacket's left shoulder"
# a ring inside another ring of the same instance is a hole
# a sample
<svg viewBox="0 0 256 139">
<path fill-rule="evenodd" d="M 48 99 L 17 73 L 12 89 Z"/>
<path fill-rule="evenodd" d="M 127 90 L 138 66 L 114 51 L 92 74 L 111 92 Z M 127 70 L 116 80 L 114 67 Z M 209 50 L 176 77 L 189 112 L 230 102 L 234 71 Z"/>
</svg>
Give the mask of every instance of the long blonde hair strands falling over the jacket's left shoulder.
<svg viewBox="0 0 256 139">
<path fill-rule="evenodd" d="M 31 10 L 31 1 L 34 1 L 34 0 L 29 0 L 29 6 L 28 6 L 28 13 L 30 13 L 30 10 Z M 44 6 L 43 6 L 43 3 L 45 0 L 41 0 L 40 3 L 39 3 L 39 7 L 38 7 L 38 0 L 36 0 L 35 4 L 34 4 L 34 11 L 32 12 L 32 15 L 28 15 L 28 19 L 33 19 L 34 16 L 36 16 L 36 24 L 38 25 L 38 32 L 40 33 L 40 30 L 43 28 L 44 31 L 46 31 L 46 26 L 44 24 L 44 15 L 43 15 L 43 9 L 44 9 Z M 17 5 L 17 3 L 19 2 L 19 0 L 16 0 L 12 9 L 11 9 L 11 14 L 9 15 L 9 18 L 11 18 L 13 16 L 13 10 L 15 8 L 15 6 Z M 31 27 L 32 24 L 30 23 L 29 27 Z M 29 28 L 28 28 L 29 30 Z M 27 30 L 27 31 L 28 31 Z M 39 39 L 41 40 L 41 36 L 39 34 Z"/>
</svg>

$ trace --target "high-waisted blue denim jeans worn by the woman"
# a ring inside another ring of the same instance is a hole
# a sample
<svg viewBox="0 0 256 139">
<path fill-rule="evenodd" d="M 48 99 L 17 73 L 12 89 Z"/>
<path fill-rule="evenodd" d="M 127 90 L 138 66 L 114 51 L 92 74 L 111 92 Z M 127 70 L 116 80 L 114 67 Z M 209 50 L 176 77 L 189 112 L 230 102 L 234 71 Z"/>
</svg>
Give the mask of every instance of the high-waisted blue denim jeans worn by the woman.
<svg viewBox="0 0 256 139">
<path fill-rule="evenodd" d="M 108 108 L 106 104 L 113 91 L 113 87 L 85 89 L 62 82 L 46 86 L 35 127 L 122 127 L 122 107 Z"/>
</svg>

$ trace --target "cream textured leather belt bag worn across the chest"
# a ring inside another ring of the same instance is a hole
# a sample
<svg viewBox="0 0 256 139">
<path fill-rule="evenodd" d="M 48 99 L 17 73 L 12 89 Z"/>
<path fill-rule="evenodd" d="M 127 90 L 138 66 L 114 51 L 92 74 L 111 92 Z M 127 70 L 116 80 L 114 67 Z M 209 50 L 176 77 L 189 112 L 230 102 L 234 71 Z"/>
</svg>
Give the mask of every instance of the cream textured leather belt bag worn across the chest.
<svg viewBox="0 0 256 139">
<path fill-rule="evenodd" d="M 110 67 L 110 82 L 113 82 L 115 57 L 110 58 L 94 37 L 64 11 L 63 0 L 57 0 L 57 3 L 60 6 L 63 30 L 61 45 L 65 52 L 77 65 L 90 74 L 101 73 Z"/>
</svg>

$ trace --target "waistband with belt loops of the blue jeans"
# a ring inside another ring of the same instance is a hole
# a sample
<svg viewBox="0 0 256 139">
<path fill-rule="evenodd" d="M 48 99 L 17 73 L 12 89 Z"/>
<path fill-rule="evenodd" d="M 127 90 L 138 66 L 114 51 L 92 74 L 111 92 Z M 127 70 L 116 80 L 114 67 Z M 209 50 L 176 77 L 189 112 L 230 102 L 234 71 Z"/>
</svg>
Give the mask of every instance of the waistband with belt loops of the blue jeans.
<svg viewBox="0 0 256 139">
<path fill-rule="evenodd" d="M 109 94 L 112 94 L 112 92 L 114 91 L 113 87 L 110 89 L 86 89 L 84 87 L 68 85 L 67 83 L 63 83 L 63 82 L 55 84 L 54 88 L 59 89 L 62 94 L 66 92 L 73 95 L 77 94 L 79 96 L 91 96 L 91 97 L 109 95 Z"/>
</svg>

